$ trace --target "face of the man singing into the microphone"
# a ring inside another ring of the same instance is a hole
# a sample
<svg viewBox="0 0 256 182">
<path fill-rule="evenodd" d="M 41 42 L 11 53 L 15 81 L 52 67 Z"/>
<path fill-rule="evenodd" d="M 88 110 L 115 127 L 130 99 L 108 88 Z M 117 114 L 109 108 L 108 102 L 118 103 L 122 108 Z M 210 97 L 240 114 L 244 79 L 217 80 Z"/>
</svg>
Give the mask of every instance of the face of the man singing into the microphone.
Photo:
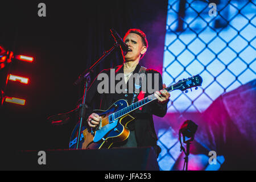
<svg viewBox="0 0 256 182">
<path fill-rule="evenodd" d="M 124 57 L 125 61 L 134 61 L 140 59 L 141 54 L 145 53 L 147 48 L 142 43 L 142 38 L 138 34 L 130 33 L 124 40 L 127 44 L 129 51 Z"/>
</svg>

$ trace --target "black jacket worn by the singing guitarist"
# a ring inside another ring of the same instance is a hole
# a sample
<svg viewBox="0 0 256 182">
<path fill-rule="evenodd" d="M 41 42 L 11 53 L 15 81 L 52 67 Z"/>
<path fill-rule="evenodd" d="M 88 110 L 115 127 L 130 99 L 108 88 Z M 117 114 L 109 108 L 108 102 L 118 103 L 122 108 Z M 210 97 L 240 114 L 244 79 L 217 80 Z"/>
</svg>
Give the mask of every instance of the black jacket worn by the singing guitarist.
<svg viewBox="0 0 256 182">
<path fill-rule="evenodd" d="M 133 73 L 138 73 L 139 69 L 141 68 L 141 65 L 138 64 L 135 68 Z M 114 68 L 115 69 L 115 75 L 118 73 L 123 73 L 123 64 L 119 65 Z M 101 73 L 105 73 L 110 77 L 110 69 L 104 69 Z M 112 72 L 113 73 L 113 72 Z M 151 73 L 151 75 L 148 75 L 148 73 Z M 152 85 L 154 85 L 154 73 L 158 75 L 158 87 L 159 90 L 163 89 L 163 82 L 162 82 L 162 76 L 159 72 L 155 71 L 154 69 L 147 69 L 146 70 L 146 80 L 148 80 L 149 76 L 152 76 Z M 100 74 L 99 74 L 100 75 Z M 99 76 L 98 75 L 98 76 Z M 97 76 L 97 77 L 98 77 Z M 89 117 L 90 114 L 93 113 L 93 109 L 101 109 L 101 110 L 107 110 L 115 101 L 119 99 L 125 99 L 129 105 L 131 104 L 131 100 L 133 98 L 133 93 L 110 93 L 110 86 L 109 86 L 109 93 L 98 93 L 97 87 L 98 84 L 102 80 L 98 80 L 97 77 L 94 79 L 92 84 L 89 86 L 88 92 L 86 94 L 86 105 L 89 106 L 89 109 L 87 109 L 86 112 L 86 118 Z M 131 78 L 127 82 L 127 88 L 129 90 L 129 82 L 131 81 Z M 143 78 L 143 81 L 145 81 L 145 78 Z M 109 79 L 109 85 L 111 85 L 112 82 L 112 91 L 113 91 L 113 79 Z M 116 85 L 118 80 L 114 81 Z M 135 83 L 135 78 L 134 82 Z M 134 87 L 134 84 L 133 84 Z M 123 88 L 125 89 L 125 88 Z M 156 88 L 156 90 L 158 90 Z M 155 91 L 156 91 L 155 90 Z M 141 90 L 140 90 L 141 91 Z M 144 93 L 144 97 L 149 96 L 152 93 L 148 93 L 150 90 L 146 90 L 146 93 Z M 141 94 L 138 97 L 143 96 Z M 142 97 L 142 98 L 144 98 Z M 138 101 L 135 100 L 135 102 Z M 167 102 L 166 104 L 159 104 L 157 100 L 150 102 L 147 105 L 144 105 L 142 109 L 137 109 L 131 113 L 136 119 L 134 119 L 133 122 L 131 122 L 131 125 L 128 127 L 130 130 L 135 130 L 135 136 L 137 140 L 138 147 L 142 146 L 153 146 L 156 147 L 156 141 L 158 140 L 156 133 L 155 133 L 155 127 L 153 122 L 152 114 L 157 115 L 158 117 L 164 117 L 167 111 Z M 159 147 L 158 147 L 159 148 Z M 159 152 L 159 151 L 158 151 Z"/>
</svg>

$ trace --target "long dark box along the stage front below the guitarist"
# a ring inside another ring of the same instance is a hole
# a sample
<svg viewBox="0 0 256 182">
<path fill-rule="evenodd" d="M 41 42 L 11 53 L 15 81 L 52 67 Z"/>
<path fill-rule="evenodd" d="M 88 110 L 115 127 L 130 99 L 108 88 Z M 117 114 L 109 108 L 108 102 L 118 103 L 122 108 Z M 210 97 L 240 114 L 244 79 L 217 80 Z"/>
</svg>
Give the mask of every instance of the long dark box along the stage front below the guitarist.
<svg viewBox="0 0 256 182">
<path fill-rule="evenodd" d="M 152 147 L 20 151 L 18 170 L 159 171 Z"/>
</svg>

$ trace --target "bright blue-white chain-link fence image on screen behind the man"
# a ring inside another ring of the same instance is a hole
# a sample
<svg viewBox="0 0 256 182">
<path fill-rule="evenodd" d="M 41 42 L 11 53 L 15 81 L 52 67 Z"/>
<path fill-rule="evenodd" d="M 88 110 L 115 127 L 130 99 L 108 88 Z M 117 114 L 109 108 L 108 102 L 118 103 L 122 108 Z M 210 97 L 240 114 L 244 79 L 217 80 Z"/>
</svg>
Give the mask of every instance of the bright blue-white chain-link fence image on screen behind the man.
<svg viewBox="0 0 256 182">
<path fill-rule="evenodd" d="M 168 113 L 202 113 L 221 94 L 256 78 L 255 2 L 168 1 L 163 82 L 203 78 L 196 92 L 172 92 Z M 181 153 L 175 136 L 172 127 L 158 132 L 161 170 L 170 170 Z M 206 170 L 217 170 L 224 160 L 220 156 Z"/>
</svg>

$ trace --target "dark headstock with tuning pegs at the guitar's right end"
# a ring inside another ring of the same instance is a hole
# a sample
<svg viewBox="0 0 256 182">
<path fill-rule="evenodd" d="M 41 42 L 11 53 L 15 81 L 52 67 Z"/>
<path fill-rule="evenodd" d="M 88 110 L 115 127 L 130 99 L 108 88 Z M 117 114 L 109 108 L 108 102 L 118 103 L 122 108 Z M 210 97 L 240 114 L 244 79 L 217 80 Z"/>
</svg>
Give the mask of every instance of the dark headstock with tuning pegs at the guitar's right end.
<svg viewBox="0 0 256 182">
<path fill-rule="evenodd" d="M 187 79 L 180 80 L 176 84 L 173 85 L 174 89 L 179 89 L 181 91 L 187 90 L 192 87 L 201 86 L 203 82 L 203 79 L 201 76 L 196 75 Z"/>
</svg>

